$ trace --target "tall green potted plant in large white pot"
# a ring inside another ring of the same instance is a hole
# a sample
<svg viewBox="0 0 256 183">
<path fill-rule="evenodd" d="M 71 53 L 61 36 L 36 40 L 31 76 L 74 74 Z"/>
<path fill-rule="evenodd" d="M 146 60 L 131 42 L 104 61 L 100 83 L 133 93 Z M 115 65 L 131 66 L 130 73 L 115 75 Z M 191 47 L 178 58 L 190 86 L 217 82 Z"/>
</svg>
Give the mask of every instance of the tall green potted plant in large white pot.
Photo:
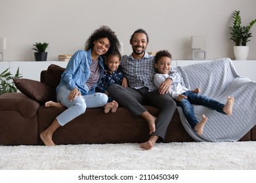
<svg viewBox="0 0 256 183">
<path fill-rule="evenodd" d="M 256 19 L 252 20 L 249 25 L 242 26 L 242 19 L 240 16 L 240 10 L 235 10 L 232 16 L 232 25 L 230 27 L 230 39 L 234 41 L 234 56 L 236 59 L 247 59 L 249 54 L 249 46 L 246 46 L 246 43 L 251 41 L 249 40 L 251 35 L 251 27 L 255 24 Z"/>
</svg>

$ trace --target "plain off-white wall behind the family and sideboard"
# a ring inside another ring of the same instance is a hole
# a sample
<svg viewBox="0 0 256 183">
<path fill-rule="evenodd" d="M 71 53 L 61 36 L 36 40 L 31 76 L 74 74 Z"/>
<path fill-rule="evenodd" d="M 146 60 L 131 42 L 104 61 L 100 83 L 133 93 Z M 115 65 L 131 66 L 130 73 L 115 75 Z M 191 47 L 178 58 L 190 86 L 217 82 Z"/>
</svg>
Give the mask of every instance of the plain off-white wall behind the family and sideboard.
<svg viewBox="0 0 256 183">
<path fill-rule="evenodd" d="M 191 59 L 190 36 L 208 35 L 207 59 L 234 59 L 232 13 L 240 10 L 247 25 L 255 7 L 255 0 L 0 0 L 0 37 L 7 37 L 7 61 L 34 60 L 35 42 L 49 42 L 48 60 L 73 54 L 100 25 L 116 31 L 124 54 L 131 53 L 131 34 L 143 28 L 148 52 L 167 49 L 173 59 Z M 248 59 L 256 59 L 256 25 L 251 31 Z"/>
</svg>

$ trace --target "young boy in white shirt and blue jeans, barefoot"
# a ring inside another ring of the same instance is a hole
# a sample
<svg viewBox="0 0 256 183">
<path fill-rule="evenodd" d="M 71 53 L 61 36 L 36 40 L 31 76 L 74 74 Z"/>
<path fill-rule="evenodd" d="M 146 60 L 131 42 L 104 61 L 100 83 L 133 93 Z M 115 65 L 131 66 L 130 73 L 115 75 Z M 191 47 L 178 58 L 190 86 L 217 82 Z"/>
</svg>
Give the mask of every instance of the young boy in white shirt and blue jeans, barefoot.
<svg viewBox="0 0 256 183">
<path fill-rule="evenodd" d="M 158 70 L 158 73 L 154 76 L 154 84 L 158 88 L 161 82 L 163 82 L 169 76 L 168 73 L 172 69 L 171 54 L 167 50 L 161 50 L 156 53 L 155 67 Z M 203 114 L 202 120 L 199 122 L 194 114 L 192 104 L 203 105 L 226 115 L 232 114 L 234 98 L 230 96 L 227 97 L 226 105 L 224 105 L 218 101 L 210 99 L 207 96 L 201 95 L 200 88 L 196 88 L 195 90 L 191 91 L 182 86 L 181 83 L 172 85 L 169 89 L 169 95 L 171 95 L 171 97 L 177 101 L 178 106 L 182 107 L 186 120 L 188 120 L 188 123 L 192 129 L 194 129 L 198 135 L 202 135 L 203 127 L 207 122 L 207 118 Z"/>
</svg>

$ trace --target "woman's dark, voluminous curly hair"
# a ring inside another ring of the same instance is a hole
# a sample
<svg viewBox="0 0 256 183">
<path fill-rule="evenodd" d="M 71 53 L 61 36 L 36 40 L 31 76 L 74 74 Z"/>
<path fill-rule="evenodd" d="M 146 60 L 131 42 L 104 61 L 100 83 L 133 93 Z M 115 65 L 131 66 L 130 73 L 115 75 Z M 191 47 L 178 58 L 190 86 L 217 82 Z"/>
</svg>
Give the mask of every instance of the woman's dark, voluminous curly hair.
<svg viewBox="0 0 256 183">
<path fill-rule="evenodd" d="M 94 46 L 93 42 L 102 38 L 108 38 L 108 40 L 110 41 L 110 48 L 108 48 L 108 52 L 114 52 L 114 50 L 120 50 L 121 44 L 117 39 L 115 32 L 112 31 L 112 29 L 110 29 L 110 27 L 108 26 L 101 26 L 100 28 L 93 31 L 93 33 L 85 43 L 85 50 L 89 50 L 93 48 Z M 106 54 L 108 52 L 106 52 Z"/>
</svg>

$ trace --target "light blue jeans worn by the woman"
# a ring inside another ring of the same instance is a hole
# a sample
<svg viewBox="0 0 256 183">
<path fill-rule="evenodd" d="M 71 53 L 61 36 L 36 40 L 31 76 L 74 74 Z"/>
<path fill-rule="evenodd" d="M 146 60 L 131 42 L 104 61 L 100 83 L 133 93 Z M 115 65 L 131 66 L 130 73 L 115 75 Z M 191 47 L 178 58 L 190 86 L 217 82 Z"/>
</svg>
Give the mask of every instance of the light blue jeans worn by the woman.
<svg viewBox="0 0 256 183">
<path fill-rule="evenodd" d="M 56 117 L 58 123 L 62 126 L 85 113 L 86 108 L 102 107 L 108 102 L 108 95 L 104 93 L 77 96 L 74 101 L 68 101 L 69 94 L 70 90 L 66 85 L 62 86 L 57 93 L 57 101 L 68 107 Z"/>
</svg>

